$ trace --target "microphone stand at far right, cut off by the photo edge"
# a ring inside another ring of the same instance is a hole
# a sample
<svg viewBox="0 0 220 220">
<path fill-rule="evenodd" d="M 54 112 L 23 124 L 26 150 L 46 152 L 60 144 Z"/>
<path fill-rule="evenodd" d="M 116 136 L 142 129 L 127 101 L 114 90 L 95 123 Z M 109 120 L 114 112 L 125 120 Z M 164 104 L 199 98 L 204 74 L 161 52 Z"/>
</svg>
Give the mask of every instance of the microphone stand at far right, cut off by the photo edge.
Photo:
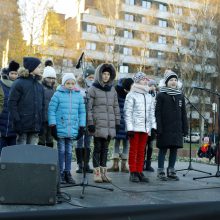
<svg viewBox="0 0 220 220">
<path fill-rule="evenodd" d="M 209 92 L 211 94 L 214 94 L 216 96 L 218 96 L 218 106 L 219 106 L 219 111 L 220 111 L 220 93 L 218 92 L 214 92 L 210 89 L 206 89 L 206 88 L 200 88 L 200 87 L 195 87 L 196 89 L 201 89 L 201 90 L 204 90 L 206 92 Z M 212 176 L 202 176 L 202 177 L 196 177 L 196 178 L 193 178 L 193 180 L 196 180 L 196 179 L 205 179 L 205 178 L 212 178 L 212 177 L 220 177 L 220 171 L 219 171 L 219 163 L 220 163 L 220 159 L 219 159 L 219 153 L 220 153 L 220 149 L 219 149 L 219 135 L 220 135 L 220 115 L 218 113 L 218 143 L 217 143 L 217 152 L 216 152 L 216 155 L 217 155 L 217 171 L 216 171 L 216 174 L 215 175 L 212 175 Z"/>
</svg>

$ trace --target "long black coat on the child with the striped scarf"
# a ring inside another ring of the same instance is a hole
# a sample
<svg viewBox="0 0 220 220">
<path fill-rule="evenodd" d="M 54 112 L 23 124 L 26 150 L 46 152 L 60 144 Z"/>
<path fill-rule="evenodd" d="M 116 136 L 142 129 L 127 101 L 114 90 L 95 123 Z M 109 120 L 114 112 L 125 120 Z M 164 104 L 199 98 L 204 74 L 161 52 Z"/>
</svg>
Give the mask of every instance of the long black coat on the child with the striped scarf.
<svg viewBox="0 0 220 220">
<path fill-rule="evenodd" d="M 155 114 L 158 133 L 157 147 L 182 148 L 183 136 L 188 132 L 184 96 L 158 93 Z"/>
</svg>

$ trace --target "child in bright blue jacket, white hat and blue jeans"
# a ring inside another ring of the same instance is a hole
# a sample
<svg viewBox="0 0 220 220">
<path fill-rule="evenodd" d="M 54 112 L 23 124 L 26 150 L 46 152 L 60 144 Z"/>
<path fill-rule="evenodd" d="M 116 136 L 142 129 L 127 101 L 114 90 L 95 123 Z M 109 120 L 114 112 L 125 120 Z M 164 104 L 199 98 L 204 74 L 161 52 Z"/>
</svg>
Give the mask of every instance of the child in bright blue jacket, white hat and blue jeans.
<svg viewBox="0 0 220 220">
<path fill-rule="evenodd" d="M 73 73 L 62 77 L 62 85 L 51 98 L 48 109 L 48 123 L 52 135 L 57 138 L 60 183 L 75 184 L 71 175 L 73 139 L 83 135 L 86 115 L 83 97 L 75 87 Z M 65 166 L 64 166 L 65 164 Z"/>
</svg>

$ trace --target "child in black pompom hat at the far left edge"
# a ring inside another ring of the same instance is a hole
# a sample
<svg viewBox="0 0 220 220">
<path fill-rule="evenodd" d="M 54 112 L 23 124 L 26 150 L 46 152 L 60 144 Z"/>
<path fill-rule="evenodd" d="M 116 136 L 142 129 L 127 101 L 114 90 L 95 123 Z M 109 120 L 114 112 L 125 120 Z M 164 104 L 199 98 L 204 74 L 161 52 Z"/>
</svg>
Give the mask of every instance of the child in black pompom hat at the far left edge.
<svg viewBox="0 0 220 220">
<path fill-rule="evenodd" d="M 8 110 L 8 98 L 12 83 L 18 77 L 19 63 L 12 60 L 8 68 L 1 74 L 0 86 L 3 91 L 4 105 L 0 112 L 0 154 L 3 147 L 16 144 L 16 133 L 13 129 L 12 116 Z"/>
</svg>

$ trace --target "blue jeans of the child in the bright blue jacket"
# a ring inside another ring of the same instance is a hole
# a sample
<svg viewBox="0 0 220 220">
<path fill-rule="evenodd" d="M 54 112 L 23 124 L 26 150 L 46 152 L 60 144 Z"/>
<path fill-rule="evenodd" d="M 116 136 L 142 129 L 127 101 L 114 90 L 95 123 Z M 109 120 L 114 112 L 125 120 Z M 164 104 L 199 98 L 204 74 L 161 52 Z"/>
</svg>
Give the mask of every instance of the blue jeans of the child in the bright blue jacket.
<svg viewBox="0 0 220 220">
<path fill-rule="evenodd" d="M 73 147 L 73 139 L 58 138 L 57 148 L 58 148 L 60 173 L 63 173 L 63 171 L 70 172 L 71 170 L 72 147 Z"/>
</svg>

